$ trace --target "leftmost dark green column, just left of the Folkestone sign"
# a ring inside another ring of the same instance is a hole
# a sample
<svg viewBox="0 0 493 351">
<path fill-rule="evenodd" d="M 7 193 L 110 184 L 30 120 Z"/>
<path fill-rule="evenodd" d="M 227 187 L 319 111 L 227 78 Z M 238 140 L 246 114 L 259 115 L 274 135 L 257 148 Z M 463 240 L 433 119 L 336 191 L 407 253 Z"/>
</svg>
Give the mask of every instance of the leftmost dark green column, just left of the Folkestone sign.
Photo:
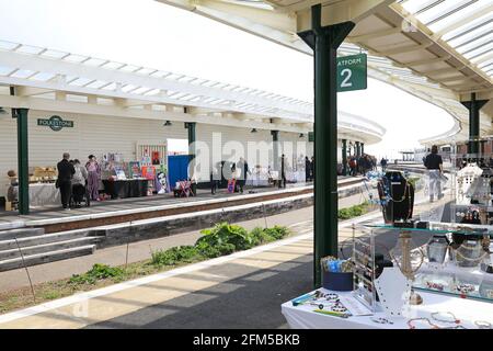
<svg viewBox="0 0 493 351">
<path fill-rule="evenodd" d="M 30 213 L 30 173 L 28 173 L 28 109 L 15 109 L 18 118 L 18 177 L 19 177 L 19 213 Z"/>
</svg>

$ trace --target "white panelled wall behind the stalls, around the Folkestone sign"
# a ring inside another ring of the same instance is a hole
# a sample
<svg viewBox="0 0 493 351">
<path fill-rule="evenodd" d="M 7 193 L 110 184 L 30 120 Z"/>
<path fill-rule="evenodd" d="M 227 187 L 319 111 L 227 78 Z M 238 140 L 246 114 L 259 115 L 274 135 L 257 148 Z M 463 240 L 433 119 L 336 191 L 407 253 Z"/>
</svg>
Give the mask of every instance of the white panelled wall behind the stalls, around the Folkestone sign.
<svg viewBox="0 0 493 351">
<path fill-rule="evenodd" d="M 165 144 L 168 138 L 187 138 L 183 123 L 163 126 L 163 121 L 121 118 L 111 116 L 80 116 L 64 114 L 64 120 L 73 121 L 73 128 L 54 132 L 38 126 L 37 118 L 49 118 L 50 114 L 30 112 L 28 149 L 30 168 L 55 167 L 65 151 L 72 159 L 84 162 L 90 154 L 101 158 L 106 152 L 123 154 L 125 161 L 136 159 L 136 144 Z M 7 194 L 7 172 L 18 170 L 16 120 L 0 118 L 0 196 Z"/>
</svg>

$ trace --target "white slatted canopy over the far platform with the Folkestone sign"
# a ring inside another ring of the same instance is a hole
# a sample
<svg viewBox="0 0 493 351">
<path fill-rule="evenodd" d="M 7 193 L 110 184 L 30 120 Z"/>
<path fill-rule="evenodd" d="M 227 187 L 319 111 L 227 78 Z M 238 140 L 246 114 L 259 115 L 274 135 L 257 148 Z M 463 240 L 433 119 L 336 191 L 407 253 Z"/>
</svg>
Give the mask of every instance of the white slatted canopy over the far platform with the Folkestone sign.
<svg viewBox="0 0 493 351">
<path fill-rule="evenodd" d="M 293 133 L 310 132 L 313 123 L 312 102 L 5 41 L 0 41 L 0 106 Z M 372 121 L 340 114 L 341 138 L 375 144 L 386 133 Z"/>
</svg>

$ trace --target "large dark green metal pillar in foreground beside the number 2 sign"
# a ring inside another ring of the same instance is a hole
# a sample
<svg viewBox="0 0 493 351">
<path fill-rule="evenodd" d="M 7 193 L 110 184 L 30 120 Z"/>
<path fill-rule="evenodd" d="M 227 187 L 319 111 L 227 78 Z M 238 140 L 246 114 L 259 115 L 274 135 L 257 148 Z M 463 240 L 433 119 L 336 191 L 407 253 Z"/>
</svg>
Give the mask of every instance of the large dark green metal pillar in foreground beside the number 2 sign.
<svg viewBox="0 0 493 351">
<path fill-rule="evenodd" d="M 337 47 L 353 22 L 321 25 L 321 4 L 311 8 L 312 30 L 298 35 L 314 58 L 314 238 L 313 284 L 321 286 L 320 259 L 337 257 Z"/>
</svg>

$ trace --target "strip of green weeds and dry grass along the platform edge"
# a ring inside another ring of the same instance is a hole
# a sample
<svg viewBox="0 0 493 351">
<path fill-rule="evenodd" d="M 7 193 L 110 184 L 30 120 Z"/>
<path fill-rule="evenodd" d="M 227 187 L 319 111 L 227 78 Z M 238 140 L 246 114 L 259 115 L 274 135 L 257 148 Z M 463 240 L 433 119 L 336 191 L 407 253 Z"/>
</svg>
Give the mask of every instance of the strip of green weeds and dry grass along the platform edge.
<svg viewBox="0 0 493 351">
<path fill-rule="evenodd" d="M 282 226 L 272 228 L 254 228 L 248 231 L 238 225 L 219 223 L 213 228 L 200 231 L 203 236 L 194 246 L 179 246 L 167 250 L 151 252 L 151 259 L 111 267 L 96 263 L 82 274 L 70 279 L 47 282 L 34 286 L 36 302 L 30 287 L 10 292 L 0 292 L 0 313 L 27 307 L 46 301 L 70 296 L 74 293 L 104 287 L 114 283 L 136 279 L 170 270 L 192 262 L 199 262 L 234 251 L 246 250 L 259 245 L 285 238 L 289 229 Z"/>
</svg>

